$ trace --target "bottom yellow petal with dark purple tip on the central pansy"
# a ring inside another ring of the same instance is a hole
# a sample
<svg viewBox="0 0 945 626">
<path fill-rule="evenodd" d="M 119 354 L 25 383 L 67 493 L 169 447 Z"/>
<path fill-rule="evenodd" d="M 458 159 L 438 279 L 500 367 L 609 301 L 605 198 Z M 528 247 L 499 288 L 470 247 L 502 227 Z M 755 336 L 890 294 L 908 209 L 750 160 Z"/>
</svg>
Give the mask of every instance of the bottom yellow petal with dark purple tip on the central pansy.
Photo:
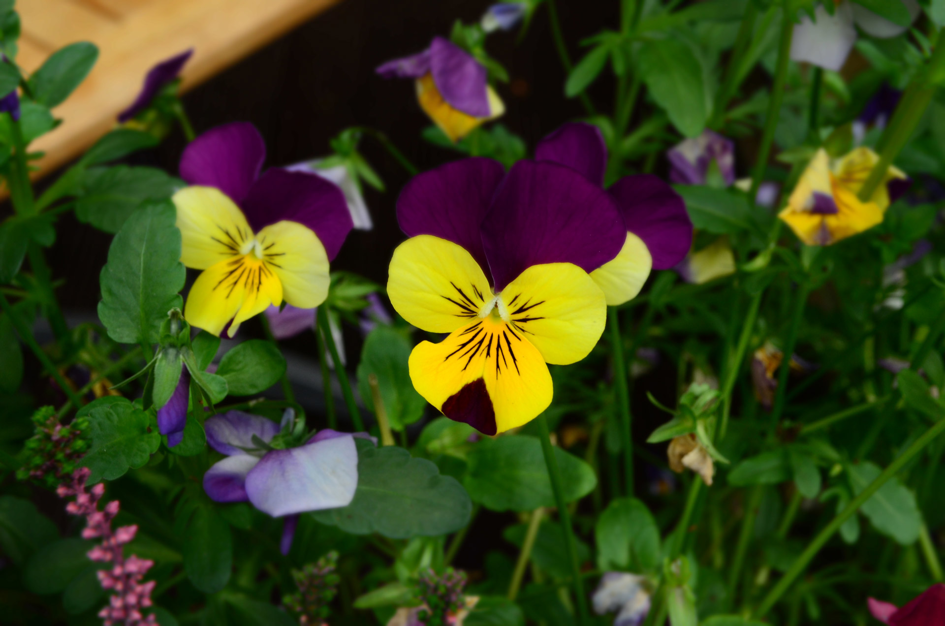
<svg viewBox="0 0 945 626">
<path fill-rule="evenodd" d="M 410 378 L 444 415 L 494 435 L 548 408 L 551 374 L 539 351 L 497 316 L 467 323 L 439 343 L 423 341 Z"/>
</svg>

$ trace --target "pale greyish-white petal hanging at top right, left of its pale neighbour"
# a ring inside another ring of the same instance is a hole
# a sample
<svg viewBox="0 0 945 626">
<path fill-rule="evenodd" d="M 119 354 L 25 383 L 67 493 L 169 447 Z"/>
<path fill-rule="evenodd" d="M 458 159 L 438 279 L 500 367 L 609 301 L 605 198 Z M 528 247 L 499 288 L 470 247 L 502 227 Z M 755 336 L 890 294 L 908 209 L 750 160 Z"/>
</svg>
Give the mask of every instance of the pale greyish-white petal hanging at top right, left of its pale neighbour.
<svg viewBox="0 0 945 626">
<path fill-rule="evenodd" d="M 833 15 L 817 5 L 814 15 L 816 22 L 812 22 L 810 16 L 802 15 L 800 24 L 794 26 L 791 60 L 807 61 L 825 70 L 839 71 L 847 61 L 853 43 L 856 43 L 850 3 L 837 5 Z"/>
</svg>

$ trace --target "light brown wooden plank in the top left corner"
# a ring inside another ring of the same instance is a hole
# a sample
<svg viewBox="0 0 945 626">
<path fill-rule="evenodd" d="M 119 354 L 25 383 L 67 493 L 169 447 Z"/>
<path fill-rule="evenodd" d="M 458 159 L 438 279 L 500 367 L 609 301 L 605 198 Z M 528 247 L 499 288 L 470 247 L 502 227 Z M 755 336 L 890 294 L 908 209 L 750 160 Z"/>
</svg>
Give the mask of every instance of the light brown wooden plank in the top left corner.
<svg viewBox="0 0 945 626">
<path fill-rule="evenodd" d="M 112 21 L 112 26 L 90 22 L 90 27 L 96 30 L 94 37 L 73 30 L 70 42 L 93 41 L 101 51 L 99 60 L 89 78 L 53 112 L 63 119 L 62 124 L 30 146 L 31 150 L 45 152 L 34 176 L 43 176 L 68 163 L 111 130 L 115 116 L 137 96 L 147 70 L 154 63 L 193 47 L 194 56 L 182 75 L 182 89 L 191 89 L 339 1 L 152 0 L 136 3 L 135 10 Z M 27 26 L 26 15 L 35 16 L 36 7 L 54 10 L 60 5 L 70 5 L 70 11 L 76 6 L 70 0 L 17 3 L 29 39 L 43 26 L 35 18 L 36 24 Z M 52 22 L 53 32 L 59 33 L 60 18 Z M 40 42 L 54 38 L 37 36 Z"/>
</svg>

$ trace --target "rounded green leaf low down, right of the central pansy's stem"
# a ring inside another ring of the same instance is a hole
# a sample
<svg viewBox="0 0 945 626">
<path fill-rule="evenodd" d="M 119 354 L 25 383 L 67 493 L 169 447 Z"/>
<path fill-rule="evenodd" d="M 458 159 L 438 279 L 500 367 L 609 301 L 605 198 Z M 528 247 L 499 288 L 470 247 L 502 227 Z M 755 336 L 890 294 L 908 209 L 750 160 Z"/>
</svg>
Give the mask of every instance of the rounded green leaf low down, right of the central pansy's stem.
<svg viewBox="0 0 945 626">
<path fill-rule="evenodd" d="M 634 497 L 611 500 L 594 527 L 597 568 L 627 571 L 660 566 L 660 529 L 646 505 Z"/>
</svg>

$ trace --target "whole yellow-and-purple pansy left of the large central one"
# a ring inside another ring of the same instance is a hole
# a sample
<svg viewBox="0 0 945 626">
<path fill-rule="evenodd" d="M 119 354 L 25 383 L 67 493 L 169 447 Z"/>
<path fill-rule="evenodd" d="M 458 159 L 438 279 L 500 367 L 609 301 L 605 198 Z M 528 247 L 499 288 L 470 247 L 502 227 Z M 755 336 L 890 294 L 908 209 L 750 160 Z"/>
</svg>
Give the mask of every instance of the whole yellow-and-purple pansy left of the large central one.
<svg viewBox="0 0 945 626">
<path fill-rule="evenodd" d="M 174 194 L 180 261 L 203 270 L 187 296 L 184 318 L 214 335 L 283 300 L 312 308 L 328 295 L 329 261 L 352 230 L 338 187 L 316 174 L 272 167 L 251 124 L 200 135 L 180 158 Z"/>
</svg>

